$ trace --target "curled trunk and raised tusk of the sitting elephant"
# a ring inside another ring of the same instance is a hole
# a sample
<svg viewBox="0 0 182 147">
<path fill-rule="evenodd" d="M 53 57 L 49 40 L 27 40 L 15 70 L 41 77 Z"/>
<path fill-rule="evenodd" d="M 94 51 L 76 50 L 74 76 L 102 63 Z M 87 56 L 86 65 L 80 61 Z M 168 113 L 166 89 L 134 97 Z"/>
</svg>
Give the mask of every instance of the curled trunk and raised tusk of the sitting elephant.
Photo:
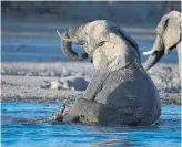
<svg viewBox="0 0 182 147">
<path fill-rule="evenodd" d="M 57 31 L 58 32 L 58 31 Z M 60 35 L 60 33 L 58 32 Z M 72 50 L 71 44 L 75 43 L 77 41 L 72 40 L 71 38 L 75 36 L 75 29 L 70 29 L 68 32 L 63 34 L 61 38 L 61 50 L 62 53 L 73 61 L 82 61 L 88 57 L 87 53 L 77 53 Z"/>
</svg>

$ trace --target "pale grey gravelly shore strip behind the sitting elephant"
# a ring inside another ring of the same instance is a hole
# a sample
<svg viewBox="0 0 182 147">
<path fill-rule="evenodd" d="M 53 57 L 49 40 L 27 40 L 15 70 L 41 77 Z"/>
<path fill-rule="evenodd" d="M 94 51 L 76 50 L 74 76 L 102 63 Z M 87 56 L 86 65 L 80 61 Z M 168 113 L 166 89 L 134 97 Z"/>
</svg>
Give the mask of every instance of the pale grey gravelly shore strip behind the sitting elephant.
<svg viewBox="0 0 182 147">
<path fill-rule="evenodd" d="M 92 70 L 92 64 L 88 62 L 4 62 L 1 69 L 1 102 L 73 102 L 82 96 L 83 91 L 41 88 L 41 85 L 44 81 L 77 74 L 90 80 Z M 162 104 L 181 105 L 178 64 L 159 63 L 149 74 L 156 85 Z"/>
</svg>

